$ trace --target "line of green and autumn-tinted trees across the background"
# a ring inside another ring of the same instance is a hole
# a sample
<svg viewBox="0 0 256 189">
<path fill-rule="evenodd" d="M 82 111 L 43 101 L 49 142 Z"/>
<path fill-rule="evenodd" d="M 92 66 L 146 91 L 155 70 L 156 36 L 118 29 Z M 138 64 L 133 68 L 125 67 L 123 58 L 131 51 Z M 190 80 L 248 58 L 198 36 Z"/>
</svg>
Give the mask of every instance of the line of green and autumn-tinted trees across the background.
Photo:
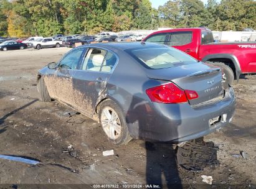
<svg viewBox="0 0 256 189">
<path fill-rule="evenodd" d="M 0 0 L 0 36 L 96 34 L 158 27 L 256 28 L 254 0 Z"/>
</svg>

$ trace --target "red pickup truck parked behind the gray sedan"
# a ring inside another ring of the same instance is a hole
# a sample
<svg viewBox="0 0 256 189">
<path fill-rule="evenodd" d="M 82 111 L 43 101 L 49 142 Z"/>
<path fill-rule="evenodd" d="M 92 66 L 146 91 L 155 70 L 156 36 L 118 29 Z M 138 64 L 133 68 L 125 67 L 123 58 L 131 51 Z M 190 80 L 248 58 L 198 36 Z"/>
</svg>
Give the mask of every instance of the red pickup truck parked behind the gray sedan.
<svg viewBox="0 0 256 189">
<path fill-rule="evenodd" d="M 256 42 L 214 43 L 211 30 L 183 28 L 149 34 L 144 42 L 156 42 L 182 50 L 197 60 L 222 68 L 230 85 L 240 74 L 256 73 Z"/>
</svg>

